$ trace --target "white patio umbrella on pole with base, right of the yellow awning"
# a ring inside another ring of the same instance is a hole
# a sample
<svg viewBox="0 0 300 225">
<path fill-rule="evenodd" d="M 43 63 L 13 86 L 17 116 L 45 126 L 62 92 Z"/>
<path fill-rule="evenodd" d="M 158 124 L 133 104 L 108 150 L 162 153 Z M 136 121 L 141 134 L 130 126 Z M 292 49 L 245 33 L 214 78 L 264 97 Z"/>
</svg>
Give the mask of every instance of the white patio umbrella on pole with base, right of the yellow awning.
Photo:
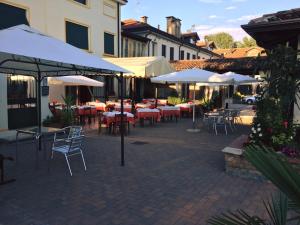
<svg viewBox="0 0 300 225">
<path fill-rule="evenodd" d="M 165 74 L 162 76 L 151 78 L 153 83 L 181 83 L 181 84 L 193 84 L 194 85 L 194 96 L 193 100 L 195 103 L 195 90 L 196 83 L 224 83 L 231 82 L 231 78 L 224 78 L 219 76 L 219 74 L 209 72 L 201 69 L 189 69 L 179 72 L 174 72 L 170 74 Z M 195 104 L 193 104 L 193 129 L 188 131 L 198 132 L 195 126 Z"/>
</svg>

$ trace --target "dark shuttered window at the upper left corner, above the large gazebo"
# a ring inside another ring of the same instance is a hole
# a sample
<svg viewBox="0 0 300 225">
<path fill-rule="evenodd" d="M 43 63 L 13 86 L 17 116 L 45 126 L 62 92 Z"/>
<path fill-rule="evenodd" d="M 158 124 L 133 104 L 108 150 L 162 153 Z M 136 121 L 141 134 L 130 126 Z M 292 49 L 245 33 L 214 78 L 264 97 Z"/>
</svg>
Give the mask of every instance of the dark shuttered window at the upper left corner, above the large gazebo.
<svg viewBox="0 0 300 225">
<path fill-rule="evenodd" d="M 26 13 L 26 9 L 0 3 L 0 30 L 20 24 L 29 25 Z"/>
</svg>

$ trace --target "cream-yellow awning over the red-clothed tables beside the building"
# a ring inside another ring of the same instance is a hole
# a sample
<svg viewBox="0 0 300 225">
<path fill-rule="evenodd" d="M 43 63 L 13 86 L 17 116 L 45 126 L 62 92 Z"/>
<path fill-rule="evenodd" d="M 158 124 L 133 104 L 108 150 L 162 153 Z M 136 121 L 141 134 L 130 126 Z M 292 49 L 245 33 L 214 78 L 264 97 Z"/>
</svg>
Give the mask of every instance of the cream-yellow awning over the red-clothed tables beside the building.
<svg viewBox="0 0 300 225">
<path fill-rule="evenodd" d="M 132 71 L 125 76 L 150 78 L 174 72 L 165 57 L 105 58 L 106 61 Z"/>
</svg>

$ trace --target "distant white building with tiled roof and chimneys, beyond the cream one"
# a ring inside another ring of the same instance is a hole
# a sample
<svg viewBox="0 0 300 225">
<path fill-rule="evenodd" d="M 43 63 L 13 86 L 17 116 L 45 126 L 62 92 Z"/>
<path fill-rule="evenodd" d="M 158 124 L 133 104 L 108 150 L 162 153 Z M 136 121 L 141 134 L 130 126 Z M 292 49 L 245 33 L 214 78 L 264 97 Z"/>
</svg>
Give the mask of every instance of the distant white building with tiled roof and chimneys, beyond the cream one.
<svg viewBox="0 0 300 225">
<path fill-rule="evenodd" d="M 122 23 L 123 32 L 147 38 L 144 56 L 164 56 L 170 61 L 218 58 L 219 55 L 210 50 L 198 47 L 197 33 L 181 33 L 181 20 L 173 16 L 167 17 L 167 30 L 155 28 L 148 24 L 148 17 L 140 21 L 128 19 Z M 124 44 L 124 42 L 123 42 Z M 124 46 L 122 50 L 125 54 Z"/>
</svg>

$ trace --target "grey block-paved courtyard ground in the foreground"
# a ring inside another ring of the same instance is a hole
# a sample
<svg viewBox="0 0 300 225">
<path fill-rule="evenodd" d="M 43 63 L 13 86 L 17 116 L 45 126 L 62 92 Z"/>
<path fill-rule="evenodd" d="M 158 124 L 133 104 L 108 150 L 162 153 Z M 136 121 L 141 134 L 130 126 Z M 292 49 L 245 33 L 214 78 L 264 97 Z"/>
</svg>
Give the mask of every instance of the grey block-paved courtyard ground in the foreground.
<svg viewBox="0 0 300 225">
<path fill-rule="evenodd" d="M 48 164 L 40 153 L 37 169 L 33 145 L 24 143 L 17 167 L 7 164 L 17 181 L 0 186 L 0 224 L 198 225 L 226 210 L 262 214 L 261 199 L 273 187 L 224 172 L 221 149 L 248 128 L 215 136 L 204 129 L 188 133 L 190 126 L 184 119 L 132 129 L 125 167 L 119 137 L 90 132 L 88 170 L 74 156 L 73 177 L 59 155 Z M 0 151 L 13 155 L 13 149 Z"/>
</svg>

